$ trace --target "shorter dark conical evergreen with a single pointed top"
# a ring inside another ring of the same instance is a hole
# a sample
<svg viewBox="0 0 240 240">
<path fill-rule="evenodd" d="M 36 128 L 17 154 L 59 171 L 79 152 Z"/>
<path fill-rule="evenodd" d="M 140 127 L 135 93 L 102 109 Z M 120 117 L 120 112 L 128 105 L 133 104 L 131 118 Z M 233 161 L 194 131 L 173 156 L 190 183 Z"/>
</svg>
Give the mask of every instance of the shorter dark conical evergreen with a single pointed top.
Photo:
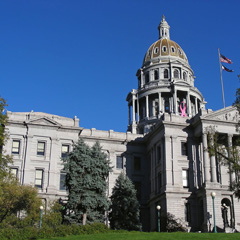
<svg viewBox="0 0 240 240">
<path fill-rule="evenodd" d="M 140 211 L 137 191 L 131 180 L 121 173 L 116 180 L 111 196 L 109 213 L 112 229 L 140 230 Z"/>
</svg>

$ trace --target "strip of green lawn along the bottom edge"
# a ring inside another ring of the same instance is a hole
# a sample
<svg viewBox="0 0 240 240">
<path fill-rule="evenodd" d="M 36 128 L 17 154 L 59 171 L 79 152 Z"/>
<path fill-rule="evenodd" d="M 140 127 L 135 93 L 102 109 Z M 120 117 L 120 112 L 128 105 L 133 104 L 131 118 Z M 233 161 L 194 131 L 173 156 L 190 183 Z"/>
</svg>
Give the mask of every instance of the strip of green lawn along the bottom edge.
<svg viewBox="0 0 240 240">
<path fill-rule="evenodd" d="M 52 240 L 240 240 L 240 233 L 145 233 L 109 232 L 51 238 Z M 45 239 L 50 240 L 50 239 Z"/>
</svg>

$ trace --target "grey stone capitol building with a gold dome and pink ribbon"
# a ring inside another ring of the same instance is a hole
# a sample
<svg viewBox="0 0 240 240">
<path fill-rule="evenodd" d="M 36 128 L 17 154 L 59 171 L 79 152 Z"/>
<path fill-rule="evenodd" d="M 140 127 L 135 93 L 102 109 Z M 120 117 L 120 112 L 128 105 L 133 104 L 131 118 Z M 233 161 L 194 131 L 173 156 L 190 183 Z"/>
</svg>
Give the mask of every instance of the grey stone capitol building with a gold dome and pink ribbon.
<svg viewBox="0 0 240 240">
<path fill-rule="evenodd" d="M 77 117 L 8 111 L 5 148 L 13 157 L 12 172 L 21 184 L 36 186 L 46 204 L 66 199 L 61 158 L 79 137 L 89 146 L 99 141 L 113 166 L 107 195 L 119 174 L 126 173 L 137 189 L 144 231 L 157 230 L 157 205 L 161 215 L 175 215 L 189 231 L 212 231 L 212 192 L 218 231 L 240 231 L 240 203 L 229 190 L 235 175 L 207 151 L 212 129 L 226 147 L 235 144 L 238 111 L 232 106 L 207 110 L 189 60 L 171 40 L 164 16 L 158 31 L 159 39 L 136 71 L 138 88 L 126 97 L 126 132 L 85 129 Z M 223 206 L 228 210 L 225 224 Z"/>
</svg>

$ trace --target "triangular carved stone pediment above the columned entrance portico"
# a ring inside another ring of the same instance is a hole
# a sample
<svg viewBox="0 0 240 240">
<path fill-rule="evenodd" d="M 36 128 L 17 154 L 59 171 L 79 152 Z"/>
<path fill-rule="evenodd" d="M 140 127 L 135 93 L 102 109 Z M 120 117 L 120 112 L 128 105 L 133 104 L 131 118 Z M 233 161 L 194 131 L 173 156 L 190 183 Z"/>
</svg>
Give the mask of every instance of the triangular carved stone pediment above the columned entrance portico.
<svg viewBox="0 0 240 240">
<path fill-rule="evenodd" d="M 238 122 L 239 112 L 235 107 L 230 106 L 214 112 L 207 113 L 206 115 L 203 115 L 201 119 L 218 120 L 225 122 Z"/>
</svg>

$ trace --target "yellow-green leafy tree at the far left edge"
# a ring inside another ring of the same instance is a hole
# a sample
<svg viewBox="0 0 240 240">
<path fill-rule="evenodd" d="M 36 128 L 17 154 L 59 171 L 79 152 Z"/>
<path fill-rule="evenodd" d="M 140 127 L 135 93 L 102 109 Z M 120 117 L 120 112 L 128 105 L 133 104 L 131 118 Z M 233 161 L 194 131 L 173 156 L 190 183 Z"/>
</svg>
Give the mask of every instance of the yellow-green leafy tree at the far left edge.
<svg viewBox="0 0 240 240">
<path fill-rule="evenodd" d="M 23 186 L 18 179 L 10 173 L 12 158 L 4 154 L 3 147 L 8 139 L 5 126 L 7 115 L 6 101 L 0 97 L 0 223 L 16 223 L 17 213 L 24 212 L 24 221 L 34 224 L 39 218 L 40 199 L 37 197 L 37 190 L 32 186 Z M 20 221 L 20 220 L 19 220 Z"/>
</svg>

